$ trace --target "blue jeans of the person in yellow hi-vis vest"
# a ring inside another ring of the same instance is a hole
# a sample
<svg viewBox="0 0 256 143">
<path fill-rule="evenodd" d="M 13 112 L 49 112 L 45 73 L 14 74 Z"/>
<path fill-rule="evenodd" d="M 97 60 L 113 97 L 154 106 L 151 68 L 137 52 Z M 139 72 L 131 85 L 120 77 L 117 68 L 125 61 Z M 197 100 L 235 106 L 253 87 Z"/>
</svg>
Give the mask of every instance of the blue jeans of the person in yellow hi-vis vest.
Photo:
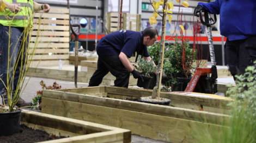
<svg viewBox="0 0 256 143">
<path fill-rule="evenodd" d="M 21 73 L 21 62 L 23 65 L 25 64 L 26 61 L 26 56 L 27 56 L 27 46 L 28 46 L 28 41 L 29 38 L 27 38 L 26 42 L 23 42 L 23 31 L 24 28 L 22 27 L 10 27 L 10 33 L 9 33 L 9 26 L 5 27 L 0 24 L 0 48 L 2 51 L 1 59 L 0 59 L 0 78 L 3 80 L 0 81 L 0 95 L 5 95 L 7 92 L 7 89 L 5 86 L 7 86 L 7 80 L 11 82 L 10 86 L 13 86 L 13 93 L 15 93 L 15 90 L 19 90 L 20 87 L 18 87 L 18 81 L 19 81 L 19 76 Z M 9 39 L 9 35 L 10 39 Z M 29 37 L 29 36 L 28 36 Z M 10 40 L 10 44 L 9 44 Z M 24 44 L 24 45 L 23 45 Z M 23 61 L 22 55 L 20 55 L 20 58 L 18 60 L 18 55 L 22 51 L 21 49 L 25 48 L 23 51 Z M 9 52 L 9 53 L 8 53 Z M 9 57 L 8 57 L 9 55 Z M 8 71 L 8 63 L 9 63 L 9 71 Z M 13 69 L 15 67 L 15 64 L 17 63 L 17 67 L 13 72 Z M 9 72 L 10 78 L 7 79 L 7 73 Z M 13 78 L 14 74 L 14 78 Z M 23 77 L 20 77 L 23 78 Z M 5 86 L 4 86 L 5 85 Z M 12 94 L 13 94 L 12 93 Z M 14 95 L 13 95 L 14 96 Z M 4 100 L 7 100 L 7 96 L 4 96 Z"/>
</svg>

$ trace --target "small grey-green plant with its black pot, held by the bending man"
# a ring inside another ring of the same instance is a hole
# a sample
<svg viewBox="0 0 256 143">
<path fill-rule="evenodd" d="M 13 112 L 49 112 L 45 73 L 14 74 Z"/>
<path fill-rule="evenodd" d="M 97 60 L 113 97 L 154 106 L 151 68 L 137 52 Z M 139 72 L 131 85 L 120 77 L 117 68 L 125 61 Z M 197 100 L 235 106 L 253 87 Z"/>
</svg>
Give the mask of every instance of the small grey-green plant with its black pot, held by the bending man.
<svg viewBox="0 0 256 143">
<path fill-rule="evenodd" d="M 137 86 L 149 89 L 151 80 L 153 79 L 150 74 L 154 74 L 156 67 L 154 66 L 153 61 L 147 61 L 142 58 L 138 59 L 138 66 L 135 66 L 137 70 L 141 71 L 143 79 L 138 79 Z"/>
</svg>

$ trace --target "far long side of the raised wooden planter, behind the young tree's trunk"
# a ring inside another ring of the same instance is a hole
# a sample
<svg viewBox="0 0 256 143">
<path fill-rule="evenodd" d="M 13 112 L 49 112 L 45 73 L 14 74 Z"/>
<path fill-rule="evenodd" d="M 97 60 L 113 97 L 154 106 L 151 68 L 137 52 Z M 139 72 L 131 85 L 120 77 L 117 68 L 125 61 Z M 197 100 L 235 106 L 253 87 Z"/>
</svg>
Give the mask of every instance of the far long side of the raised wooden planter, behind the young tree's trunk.
<svg viewBox="0 0 256 143">
<path fill-rule="evenodd" d="M 151 96 L 152 90 L 145 89 L 129 89 L 129 88 L 119 88 L 119 87 L 107 87 L 107 93 L 128 95 L 135 97 L 145 97 Z M 187 96 L 173 93 L 161 92 L 161 98 L 167 98 L 172 100 L 170 106 L 196 109 L 199 110 L 200 106 L 203 106 L 204 111 L 228 114 L 229 100 L 213 99 L 213 98 L 200 98 L 197 96 Z"/>
</svg>

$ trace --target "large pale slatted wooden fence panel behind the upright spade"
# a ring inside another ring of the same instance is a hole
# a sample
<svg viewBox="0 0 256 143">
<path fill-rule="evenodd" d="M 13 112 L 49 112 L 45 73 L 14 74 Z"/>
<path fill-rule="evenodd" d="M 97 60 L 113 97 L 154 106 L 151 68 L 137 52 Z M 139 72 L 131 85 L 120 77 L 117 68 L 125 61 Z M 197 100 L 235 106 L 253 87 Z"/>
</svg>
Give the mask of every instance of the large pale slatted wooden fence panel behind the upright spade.
<svg viewBox="0 0 256 143">
<path fill-rule="evenodd" d="M 56 20 L 52 19 L 56 18 Z M 32 66 L 69 64 L 69 9 L 51 8 L 48 13 L 34 14 L 29 52 L 36 48 Z M 40 25 L 39 25 L 40 24 Z M 38 42 L 35 44 L 39 31 Z M 41 60 L 41 61 L 40 61 Z"/>
</svg>

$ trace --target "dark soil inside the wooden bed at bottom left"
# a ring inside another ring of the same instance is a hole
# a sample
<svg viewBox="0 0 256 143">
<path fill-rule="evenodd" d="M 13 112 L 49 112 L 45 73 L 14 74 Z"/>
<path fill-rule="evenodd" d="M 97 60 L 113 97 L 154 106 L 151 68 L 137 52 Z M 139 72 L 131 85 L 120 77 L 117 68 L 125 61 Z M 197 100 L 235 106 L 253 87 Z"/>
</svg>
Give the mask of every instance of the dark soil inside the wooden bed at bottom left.
<svg viewBox="0 0 256 143">
<path fill-rule="evenodd" d="M 25 125 L 20 126 L 20 133 L 11 135 L 9 137 L 0 137 L 1 143 L 29 143 L 29 142 L 40 142 L 47 140 L 57 140 L 67 137 L 56 137 L 55 135 L 48 134 L 45 131 L 39 129 L 32 129 Z"/>
</svg>

